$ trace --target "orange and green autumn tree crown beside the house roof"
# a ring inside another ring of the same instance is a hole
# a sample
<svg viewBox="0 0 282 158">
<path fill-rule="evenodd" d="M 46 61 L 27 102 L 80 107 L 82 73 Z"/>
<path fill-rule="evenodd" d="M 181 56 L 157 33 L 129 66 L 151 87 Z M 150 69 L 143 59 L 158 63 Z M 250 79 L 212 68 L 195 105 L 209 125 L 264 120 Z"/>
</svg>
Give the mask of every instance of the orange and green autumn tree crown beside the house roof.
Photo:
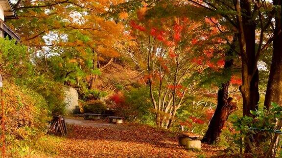
<svg viewBox="0 0 282 158">
<path fill-rule="evenodd" d="M 70 77 L 69 74 L 84 74 L 71 76 L 76 76 L 77 84 L 79 78 L 82 78 L 89 84 L 89 88 L 93 88 L 94 79 L 100 71 L 98 69 L 109 65 L 113 58 L 118 57 L 113 44 L 120 37 L 123 26 L 105 13 L 111 5 L 121 1 L 18 0 L 14 7 L 19 20 L 9 22 L 21 36 L 22 43 L 37 50 L 36 53 L 42 56 L 36 62 L 42 60 L 46 72 L 51 66 L 56 66 L 56 63 L 51 63 L 54 56 L 67 59 L 65 63 L 75 63 L 80 70 L 63 70 L 65 78 Z M 62 51 L 73 53 L 65 58 L 64 55 L 60 56 Z M 86 56 L 87 59 L 82 59 Z M 92 65 L 92 70 L 83 69 L 81 65 Z"/>
</svg>

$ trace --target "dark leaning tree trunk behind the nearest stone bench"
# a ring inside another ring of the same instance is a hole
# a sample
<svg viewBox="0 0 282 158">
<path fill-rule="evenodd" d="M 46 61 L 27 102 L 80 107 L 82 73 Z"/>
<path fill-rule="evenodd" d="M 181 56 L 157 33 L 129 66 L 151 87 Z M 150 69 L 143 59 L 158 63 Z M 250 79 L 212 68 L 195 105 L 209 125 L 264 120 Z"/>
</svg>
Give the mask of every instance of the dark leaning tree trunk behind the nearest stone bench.
<svg viewBox="0 0 282 158">
<path fill-rule="evenodd" d="M 223 71 L 231 71 L 234 61 L 234 59 L 232 59 L 232 55 L 235 49 L 235 42 L 236 37 L 234 37 L 230 50 L 226 52 Z M 221 89 L 218 90 L 217 106 L 209 123 L 208 130 L 204 138 L 202 139 L 202 142 L 212 144 L 214 141 L 216 141 L 219 138 L 222 128 L 224 127 L 224 124 L 228 119 L 229 115 L 237 109 L 236 104 L 232 103 L 232 98 L 228 97 L 229 84 L 230 80 L 226 83 L 222 83 Z"/>
</svg>

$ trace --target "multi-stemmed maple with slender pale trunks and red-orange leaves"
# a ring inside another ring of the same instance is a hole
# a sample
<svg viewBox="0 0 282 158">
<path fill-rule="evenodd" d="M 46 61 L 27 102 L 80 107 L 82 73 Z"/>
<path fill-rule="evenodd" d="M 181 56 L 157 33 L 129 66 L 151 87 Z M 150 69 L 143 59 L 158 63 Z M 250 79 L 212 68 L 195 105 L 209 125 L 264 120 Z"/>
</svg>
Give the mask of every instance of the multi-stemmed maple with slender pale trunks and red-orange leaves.
<svg viewBox="0 0 282 158">
<path fill-rule="evenodd" d="M 130 21 L 133 30 L 131 36 L 136 39 L 137 50 L 134 50 L 130 44 L 132 41 L 128 42 L 128 47 L 124 46 L 124 41 L 119 41 L 116 47 L 139 66 L 145 65 L 144 68 L 148 71 L 145 79 L 150 87 L 156 124 L 170 128 L 189 86 L 193 85 L 189 80 L 193 72 L 200 72 L 209 67 L 218 69 L 217 67 L 223 67 L 224 61 L 215 58 L 217 64 L 215 66 L 211 59 L 216 57 L 216 51 L 212 47 L 202 46 L 204 40 L 201 36 L 208 38 L 210 34 L 192 33 L 200 26 L 199 24 L 186 17 L 172 17 L 174 20 L 154 19 L 148 22 L 144 17 L 146 14 L 151 14 L 151 11 L 146 13 L 146 7 L 147 4 L 144 4 L 137 12 L 138 21 Z M 163 25 L 160 26 L 160 23 Z M 199 49 L 204 50 L 203 54 L 194 53 L 198 51 L 192 49 L 195 45 L 199 45 Z"/>
</svg>

